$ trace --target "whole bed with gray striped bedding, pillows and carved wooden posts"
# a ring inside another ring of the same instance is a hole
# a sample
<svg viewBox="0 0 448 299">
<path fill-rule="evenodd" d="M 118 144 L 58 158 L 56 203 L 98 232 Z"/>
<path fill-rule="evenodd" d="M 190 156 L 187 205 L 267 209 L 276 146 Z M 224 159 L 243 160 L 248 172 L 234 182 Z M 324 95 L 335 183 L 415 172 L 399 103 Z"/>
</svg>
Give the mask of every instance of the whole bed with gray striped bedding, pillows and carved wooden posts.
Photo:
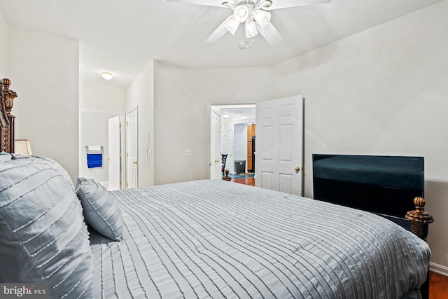
<svg viewBox="0 0 448 299">
<path fill-rule="evenodd" d="M 48 298 L 421 298 L 426 236 L 367 211 L 223 180 L 108 191 L 88 178 L 73 184 L 47 157 L 3 151 L 0 159 L 0 282 L 16 290 L 42 285 Z"/>
</svg>

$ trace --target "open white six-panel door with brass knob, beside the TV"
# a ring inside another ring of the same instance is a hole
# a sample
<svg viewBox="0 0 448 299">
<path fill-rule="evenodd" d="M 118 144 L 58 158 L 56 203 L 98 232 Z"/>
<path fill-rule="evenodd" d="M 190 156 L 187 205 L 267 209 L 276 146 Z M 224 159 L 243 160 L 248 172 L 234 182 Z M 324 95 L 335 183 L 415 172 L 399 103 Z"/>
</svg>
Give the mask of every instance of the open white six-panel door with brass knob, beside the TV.
<svg viewBox="0 0 448 299">
<path fill-rule="evenodd" d="M 302 195 L 301 95 L 256 104 L 255 186 Z"/>
</svg>

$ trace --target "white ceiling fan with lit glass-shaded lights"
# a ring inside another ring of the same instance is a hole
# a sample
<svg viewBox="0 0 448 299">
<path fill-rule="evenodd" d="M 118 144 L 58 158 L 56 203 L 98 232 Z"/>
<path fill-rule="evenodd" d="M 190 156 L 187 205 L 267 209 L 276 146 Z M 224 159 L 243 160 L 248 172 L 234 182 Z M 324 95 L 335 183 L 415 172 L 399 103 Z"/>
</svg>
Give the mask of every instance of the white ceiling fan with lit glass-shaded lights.
<svg viewBox="0 0 448 299">
<path fill-rule="evenodd" d="M 272 25 L 271 13 L 274 9 L 325 4 L 332 0 L 168 0 L 206 6 L 231 8 L 233 13 L 210 34 L 205 43 L 215 43 L 227 32 L 235 34 L 239 24 L 245 23 L 246 38 L 253 38 L 260 33 L 268 43 L 276 45 L 283 41 L 283 36 Z"/>
</svg>

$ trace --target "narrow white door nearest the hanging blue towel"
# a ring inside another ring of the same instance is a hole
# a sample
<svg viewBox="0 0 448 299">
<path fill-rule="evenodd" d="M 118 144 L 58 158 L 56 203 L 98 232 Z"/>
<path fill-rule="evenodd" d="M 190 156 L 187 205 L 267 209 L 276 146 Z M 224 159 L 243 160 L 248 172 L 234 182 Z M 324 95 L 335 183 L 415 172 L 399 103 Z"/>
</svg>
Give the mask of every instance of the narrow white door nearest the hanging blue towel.
<svg viewBox="0 0 448 299">
<path fill-rule="evenodd" d="M 121 116 L 109 118 L 109 190 L 121 188 Z"/>
</svg>

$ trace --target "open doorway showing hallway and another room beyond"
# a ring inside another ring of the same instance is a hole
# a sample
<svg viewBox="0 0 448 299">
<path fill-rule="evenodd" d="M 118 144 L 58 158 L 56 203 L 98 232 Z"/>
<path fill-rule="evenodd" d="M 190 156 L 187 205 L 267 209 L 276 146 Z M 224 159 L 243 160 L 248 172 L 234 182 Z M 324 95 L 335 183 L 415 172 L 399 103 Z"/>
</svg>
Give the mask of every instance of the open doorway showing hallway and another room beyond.
<svg viewBox="0 0 448 299">
<path fill-rule="evenodd" d="M 243 130 L 236 129 L 239 125 Z M 244 161 L 244 173 L 248 167 L 254 167 L 252 160 L 248 162 L 253 155 L 248 143 L 248 125 L 255 125 L 255 103 L 209 104 L 209 179 L 223 176 L 222 155 L 226 155 L 225 169 L 230 176 L 237 175 L 237 167 L 241 167 L 235 166 L 236 161 Z"/>
</svg>

